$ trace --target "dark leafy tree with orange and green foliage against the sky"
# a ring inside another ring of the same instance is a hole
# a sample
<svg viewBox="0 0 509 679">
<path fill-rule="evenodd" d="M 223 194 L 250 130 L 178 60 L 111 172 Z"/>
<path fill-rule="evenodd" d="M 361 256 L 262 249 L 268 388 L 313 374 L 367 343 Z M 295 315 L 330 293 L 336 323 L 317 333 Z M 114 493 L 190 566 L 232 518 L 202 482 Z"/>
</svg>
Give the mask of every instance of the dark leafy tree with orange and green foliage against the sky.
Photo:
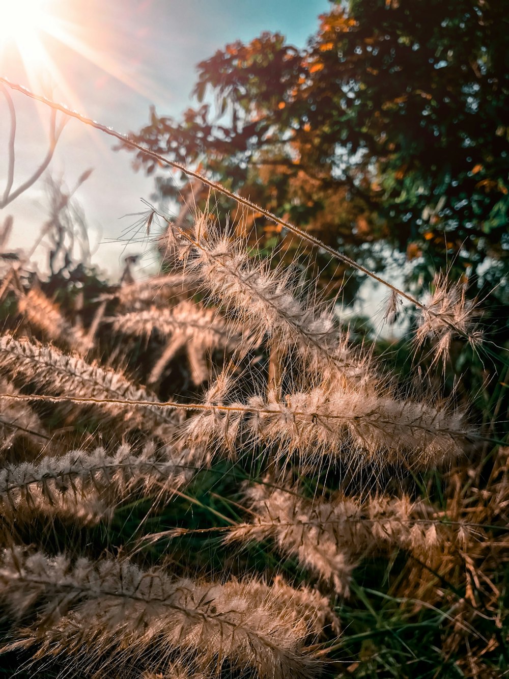
<svg viewBox="0 0 509 679">
<path fill-rule="evenodd" d="M 263 33 L 201 62 L 201 105 L 180 122 L 152 110 L 136 139 L 374 268 L 365 244 L 384 240 L 428 280 L 487 257 L 505 272 L 508 29 L 485 0 L 333 5 L 304 50 Z M 143 153 L 136 166 L 155 170 Z"/>
</svg>

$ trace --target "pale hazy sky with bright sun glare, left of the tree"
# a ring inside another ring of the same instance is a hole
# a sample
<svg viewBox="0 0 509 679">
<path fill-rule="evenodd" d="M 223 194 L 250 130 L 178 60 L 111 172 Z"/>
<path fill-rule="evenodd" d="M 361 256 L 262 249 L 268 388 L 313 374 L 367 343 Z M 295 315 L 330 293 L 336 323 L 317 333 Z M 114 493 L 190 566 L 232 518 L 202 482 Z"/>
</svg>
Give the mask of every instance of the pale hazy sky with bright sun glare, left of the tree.
<svg viewBox="0 0 509 679">
<path fill-rule="evenodd" d="M 2 7 L 8 3 L 12 0 L 0 0 L 0 21 Z M 5 44 L 5 37 L 4 44 L 0 42 L 0 74 L 41 94 L 52 83 L 52 97 L 59 103 L 128 132 L 147 124 L 151 104 L 158 113 L 178 117 L 191 104 L 195 65 L 226 43 L 279 31 L 301 47 L 330 4 L 327 0 L 48 0 L 44 6 L 50 20 L 47 31 L 36 26 L 38 40 L 22 41 L 18 27 L 17 46 L 13 41 Z M 12 97 L 18 114 L 16 187 L 43 158 L 50 111 L 22 94 L 14 92 Z M 0 96 L 0 194 L 7 177 L 8 128 L 7 107 Z M 115 241 L 136 221 L 124 215 L 143 210 L 140 198 L 149 198 L 153 179 L 134 173 L 133 155 L 112 151 L 112 142 L 71 120 L 50 170 L 72 186 L 84 170 L 94 168 L 76 195 L 86 213 L 92 245 L 97 246 L 94 261 L 115 272 L 124 246 Z M 10 248 L 29 246 L 45 219 L 43 181 L 0 210 L 0 223 L 9 214 L 15 225 Z M 138 252 L 140 246 L 131 244 L 128 251 Z M 149 259 L 144 261 L 148 264 Z"/>
</svg>

